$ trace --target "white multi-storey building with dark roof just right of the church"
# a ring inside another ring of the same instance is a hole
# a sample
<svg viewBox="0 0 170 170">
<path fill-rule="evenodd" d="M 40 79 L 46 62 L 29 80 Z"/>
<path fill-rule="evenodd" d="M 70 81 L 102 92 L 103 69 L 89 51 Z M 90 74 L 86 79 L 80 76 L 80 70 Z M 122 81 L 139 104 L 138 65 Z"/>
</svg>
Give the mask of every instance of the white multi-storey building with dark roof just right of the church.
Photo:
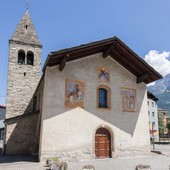
<svg viewBox="0 0 170 170">
<path fill-rule="evenodd" d="M 148 92 L 148 117 L 149 117 L 149 132 L 150 137 L 155 141 L 159 141 L 159 126 L 158 126 L 158 108 L 156 98 L 152 93 Z"/>
</svg>

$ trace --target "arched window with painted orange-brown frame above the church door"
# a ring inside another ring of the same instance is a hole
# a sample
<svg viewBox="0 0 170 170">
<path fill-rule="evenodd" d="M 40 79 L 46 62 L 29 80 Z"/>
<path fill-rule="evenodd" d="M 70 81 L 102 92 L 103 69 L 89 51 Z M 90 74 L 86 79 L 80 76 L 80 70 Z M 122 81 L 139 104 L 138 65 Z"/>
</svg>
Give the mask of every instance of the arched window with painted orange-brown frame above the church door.
<svg viewBox="0 0 170 170">
<path fill-rule="evenodd" d="M 109 109 L 110 106 L 110 89 L 106 86 L 98 87 L 98 108 L 107 108 Z"/>
</svg>

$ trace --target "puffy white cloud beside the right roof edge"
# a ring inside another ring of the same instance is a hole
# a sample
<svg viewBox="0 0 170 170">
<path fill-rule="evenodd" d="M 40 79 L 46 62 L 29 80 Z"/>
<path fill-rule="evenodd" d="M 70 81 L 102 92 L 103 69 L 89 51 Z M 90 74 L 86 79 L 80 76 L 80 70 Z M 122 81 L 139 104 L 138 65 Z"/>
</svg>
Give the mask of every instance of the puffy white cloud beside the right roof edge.
<svg viewBox="0 0 170 170">
<path fill-rule="evenodd" d="M 144 60 L 162 76 L 170 74 L 170 61 L 168 59 L 170 59 L 169 51 L 159 53 L 156 50 L 149 51 L 149 53 L 144 58 Z"/>
</svg>

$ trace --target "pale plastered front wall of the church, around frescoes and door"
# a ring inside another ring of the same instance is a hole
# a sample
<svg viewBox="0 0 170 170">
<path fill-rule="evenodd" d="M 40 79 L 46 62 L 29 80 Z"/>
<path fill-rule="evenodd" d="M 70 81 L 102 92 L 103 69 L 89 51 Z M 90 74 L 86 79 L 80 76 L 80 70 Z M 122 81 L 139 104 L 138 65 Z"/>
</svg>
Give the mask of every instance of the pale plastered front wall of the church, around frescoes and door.
<svg viewBox="0 0 170 170">
<path fill-rule="evenodd" d="M 99 83 L 98 68 L 110 70 L 110 83 Z M 84 109 L 64 106 L 65 80 L 85 82 Z M 111 89 L 111 109 L 98 109 L 96 89 L 104 84 Z M 121 87 L 136 89 L 135 112 L 123 112 Z M 94 156 L 94 134 L 97 127 L 106 126 L 112 135 L 112 151 L 123 148 L 148 149 L 149 127 L 147 95 L 144 83 L 136 84 L 136 77 L 115 62 L 96 54 L 67 63 L 61 72 L 58 66 L 47 67 L 42 109 L 40 154 L 58 152 Z"/>
</svg>

